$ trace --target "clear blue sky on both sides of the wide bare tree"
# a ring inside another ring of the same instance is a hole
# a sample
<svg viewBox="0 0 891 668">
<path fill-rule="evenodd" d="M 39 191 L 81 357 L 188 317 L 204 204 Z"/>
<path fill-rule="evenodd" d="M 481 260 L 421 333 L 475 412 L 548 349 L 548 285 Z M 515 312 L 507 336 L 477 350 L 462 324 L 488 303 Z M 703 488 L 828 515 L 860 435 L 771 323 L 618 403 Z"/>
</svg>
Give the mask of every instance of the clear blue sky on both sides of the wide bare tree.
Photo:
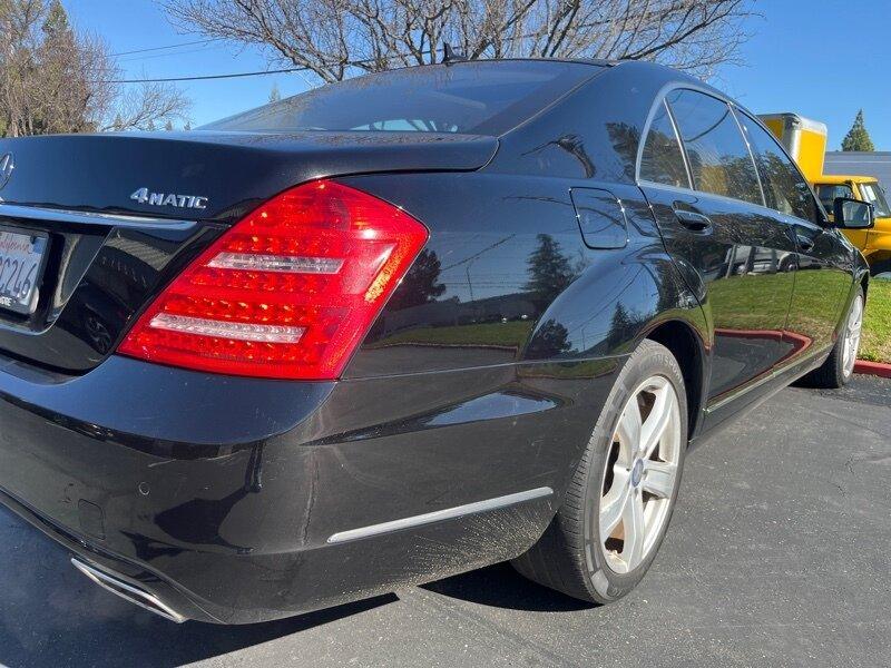
<svg viewBox="0 0 891 668">
<path fill-rule="evenodd" d="M 63 0 L 76 24 L 100 35 L 112 52 L 202 39 L 170 26 L 153 0 Z M 838 149 L 861 107 L 877 148 L 891 150 L 891 2 L 887 0 L 762 0 L 747 30 L 744 66 L 713 81 L 755 112 L 797 111 L 829 125 Z M 257 49 L 224 43 L 121 56 L 129 78 L 253 71 L 270 67 Z M 298 73 L 182 85 L 200 125 L 264 104 L 273 84 L 283 96 L 305 90 Z"/>
</svg>

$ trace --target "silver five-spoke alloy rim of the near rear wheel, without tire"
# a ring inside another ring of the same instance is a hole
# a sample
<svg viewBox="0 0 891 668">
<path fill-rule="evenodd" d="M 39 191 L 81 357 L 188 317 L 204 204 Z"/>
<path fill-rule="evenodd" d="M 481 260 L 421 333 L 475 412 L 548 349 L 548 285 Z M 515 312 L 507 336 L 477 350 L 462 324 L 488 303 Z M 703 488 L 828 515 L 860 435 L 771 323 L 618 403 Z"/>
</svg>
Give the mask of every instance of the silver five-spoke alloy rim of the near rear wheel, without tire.
<svg viewBox="0 0 891 668">
<path fill-rule="evenodd" d="M 600 549 L 618 573 L 637 568 L 663 530 L 678 483 L 681 409 L 662 375 L 640 383 L 613 434 L 600 488 Z"/>
</svg>

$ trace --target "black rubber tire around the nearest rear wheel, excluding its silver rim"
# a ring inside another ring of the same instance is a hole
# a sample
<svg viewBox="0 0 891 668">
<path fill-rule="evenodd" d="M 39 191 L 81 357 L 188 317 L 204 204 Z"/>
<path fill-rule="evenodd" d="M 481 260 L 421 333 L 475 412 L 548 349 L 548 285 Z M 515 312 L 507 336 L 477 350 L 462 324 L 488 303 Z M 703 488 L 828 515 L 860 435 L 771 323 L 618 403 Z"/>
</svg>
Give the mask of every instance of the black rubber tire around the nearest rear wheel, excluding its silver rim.
<svg viewBox="0 0 891 668">
<path fill-rule="evenodd" d="M 677 474 L 667 517 L 653 547 L 637 568 L 620 573 L 610 568 L 600 548 L 598 518 L 603 472 L 626 402 L 635 389 L 653 375 L 668 379 L 678 399 L 681 438 Z M 665 537 L 681 487 L 686 448 L 687 399 L 681 367 L 668 348 L 646 340 L 619 373 L 557 515 L 538 542 L 512 561 L 513 567 L 539 584 L 585 601 L 608 603 L 626 596 L 646 574 Z"/>
</svg>

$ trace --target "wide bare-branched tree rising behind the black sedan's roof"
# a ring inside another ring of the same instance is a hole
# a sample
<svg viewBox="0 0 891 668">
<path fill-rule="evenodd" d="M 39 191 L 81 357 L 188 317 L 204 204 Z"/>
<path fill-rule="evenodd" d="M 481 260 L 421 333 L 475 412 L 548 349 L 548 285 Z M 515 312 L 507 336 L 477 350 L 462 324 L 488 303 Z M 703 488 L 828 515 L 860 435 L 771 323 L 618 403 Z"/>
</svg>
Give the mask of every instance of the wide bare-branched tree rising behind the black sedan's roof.
<svg viewBox="0 0 891 668">
<path fill-rule="evenodd" d="M 709 76 L 753 0 L 158 0 L 182 28 L 268 49 L 323 81 L 441 59 L 647 59 Z"/>
</svg>

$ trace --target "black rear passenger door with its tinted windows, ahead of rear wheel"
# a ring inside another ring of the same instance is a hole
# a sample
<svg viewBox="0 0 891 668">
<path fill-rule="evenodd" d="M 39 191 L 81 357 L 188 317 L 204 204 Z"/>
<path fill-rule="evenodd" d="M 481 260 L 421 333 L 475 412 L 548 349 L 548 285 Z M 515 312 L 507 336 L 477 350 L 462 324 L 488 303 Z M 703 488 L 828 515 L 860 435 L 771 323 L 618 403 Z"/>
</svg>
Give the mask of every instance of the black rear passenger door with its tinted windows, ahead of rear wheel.
<svg viewBox="0 0 891 668">
<path fill-rule="evenodd" d="M 666 163 L 681 159 L 678 136 L 686 167 L 669 170 Z M 668 252 L 714 327 L 708 397 L 721 397 L 786 354 L 794 239 L 764 206 L 731 107 L 705 92 L 666 96 L 645 139 L 639 178 Z"/>
</svg>

